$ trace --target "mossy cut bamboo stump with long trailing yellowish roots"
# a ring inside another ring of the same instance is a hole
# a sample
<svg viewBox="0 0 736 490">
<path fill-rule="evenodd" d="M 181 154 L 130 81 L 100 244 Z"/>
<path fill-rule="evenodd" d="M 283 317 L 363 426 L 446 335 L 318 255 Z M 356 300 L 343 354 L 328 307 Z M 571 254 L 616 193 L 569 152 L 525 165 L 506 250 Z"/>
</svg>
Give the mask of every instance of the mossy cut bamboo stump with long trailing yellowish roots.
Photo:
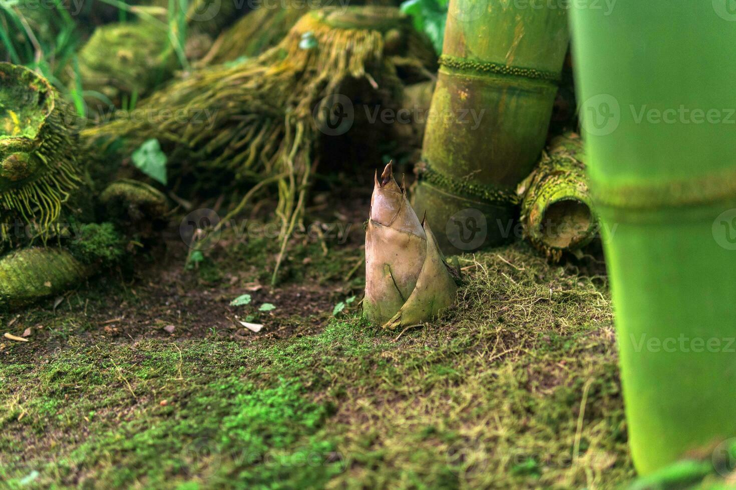
<svg viewBox="0 0 736 490">
<path fill-rule="evenodd" d="M 315 158 L 324 163 L 325 150 L 336 148 L 333 111 L 352 100 L 398 107 L 403 80 L 421 79 L 432 65 L 431 43 L 396 9 L 319 10 L 261 56 L 203 68 L 158 91 L 140 104 L 141 114 L 155 117 L 120 118 L 85 137 L 103 149 L 121 142 L 121 154 L 157 138 L 177 162 L 169 169 L 174 177 L 218 190 L 277 176 L 277 216 L 290 223 L 304 205 Z M 354 118 L 339 119 L 358 143 L 371 135 L 356 129 L 363 112 L 355 107 Z"/>
</svg>

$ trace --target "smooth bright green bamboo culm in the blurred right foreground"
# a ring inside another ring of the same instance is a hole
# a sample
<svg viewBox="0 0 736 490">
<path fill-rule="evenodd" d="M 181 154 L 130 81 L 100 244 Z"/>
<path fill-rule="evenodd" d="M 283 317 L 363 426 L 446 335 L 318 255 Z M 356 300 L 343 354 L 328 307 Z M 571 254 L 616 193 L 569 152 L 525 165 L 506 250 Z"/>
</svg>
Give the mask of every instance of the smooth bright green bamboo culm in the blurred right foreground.
<svg viewBox="0 0 736 490">
<path fill-rule="evenodd" d="M 727 7 L 573 3 L 590 188 L 640 475 L 736 436 L 736 58 L 722 48 L 736 29 Z"/>
</svg>

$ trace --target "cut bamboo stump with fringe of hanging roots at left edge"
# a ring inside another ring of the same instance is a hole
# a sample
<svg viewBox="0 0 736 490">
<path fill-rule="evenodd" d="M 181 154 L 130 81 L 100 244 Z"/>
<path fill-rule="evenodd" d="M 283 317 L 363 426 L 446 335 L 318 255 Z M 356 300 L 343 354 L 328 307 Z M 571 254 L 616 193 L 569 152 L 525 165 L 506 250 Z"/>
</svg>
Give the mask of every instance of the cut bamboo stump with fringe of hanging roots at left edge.
<svg viewBox="0 0 736 490">
<path fill-rule="evenodd" d="M 79 120 L 38 74 L 0 63 L 0 253 L 57 234 L 82 187 Z"/>
</svg>

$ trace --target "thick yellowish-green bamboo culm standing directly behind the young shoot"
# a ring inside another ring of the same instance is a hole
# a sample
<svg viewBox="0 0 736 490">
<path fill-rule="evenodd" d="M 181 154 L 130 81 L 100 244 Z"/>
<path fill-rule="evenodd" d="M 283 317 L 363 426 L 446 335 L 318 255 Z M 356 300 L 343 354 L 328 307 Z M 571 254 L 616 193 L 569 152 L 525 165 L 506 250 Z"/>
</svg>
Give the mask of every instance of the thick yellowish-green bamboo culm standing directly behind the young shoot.
<svg viewBox="0 0 736 490">
<path fill-rule="evenodd" d="M 567 44 L 562 9 L 450 0 L 414 196 L 443 251 L 511 237 L 515 190 L 544 146 Z M 468 209 L 481 233 L 470 240 L 453 226 Z"/>
</svg>

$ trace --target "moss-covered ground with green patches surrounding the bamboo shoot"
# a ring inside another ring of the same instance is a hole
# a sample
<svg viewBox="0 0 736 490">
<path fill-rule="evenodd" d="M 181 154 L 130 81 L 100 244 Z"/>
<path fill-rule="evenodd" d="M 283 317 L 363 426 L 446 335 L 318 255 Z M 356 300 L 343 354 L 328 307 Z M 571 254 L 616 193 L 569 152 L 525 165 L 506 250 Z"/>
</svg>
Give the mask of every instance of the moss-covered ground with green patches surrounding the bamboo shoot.
<svg viewBox="0 0 736 490">
<path fill-rule="evenodd" d="M 377 331 L 358 300 L 333 317 L 361 287 L 359 242 L 305 242 L 272 290 L 253 284 L 266 284 L 277 244 L 224 238 L 188 270 L 179 256 L 148 279 L 102 278 L 0 316 L 3 331 L 32 327 L 29 342 L 1 339 L 0 480 L 568 489 L 631 478 L 605 278 L 523 244 L 463 256 L 456 309 Z M 251 304 L 230 306 L 246 292 Z M 233 331 L 233 315 L 265 327 Z"/>
</svg>

